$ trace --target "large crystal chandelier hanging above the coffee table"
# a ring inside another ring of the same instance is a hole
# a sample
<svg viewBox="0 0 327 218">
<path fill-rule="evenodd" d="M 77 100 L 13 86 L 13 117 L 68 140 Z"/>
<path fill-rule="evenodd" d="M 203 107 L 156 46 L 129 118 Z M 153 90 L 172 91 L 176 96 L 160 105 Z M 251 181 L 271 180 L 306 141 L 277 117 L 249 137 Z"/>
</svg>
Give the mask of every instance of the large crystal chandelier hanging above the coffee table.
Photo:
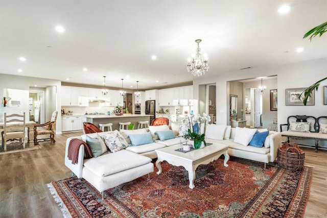
<svg viewBox="0 0 327 218">
<path fill-rule="evenodd" d="M 201 39 L 195 40 L 196 43 L 198 43 L 198 48 L 196 50 L 196 55 L 193 57 L 193 60 L 191 62 L 191 58 L 189 58 L 189 63 L 186 69 L 189 71 L 192 71 L 192 75 L 194 76 L 202 76 L 202 74 L 205 74 L 205 71 L 208 71 L 209 64 L 208 60 L 205 57 L 204 60 L 200 54 L 200 46 L 199 43 L 201 42 Z"/>
</svg>

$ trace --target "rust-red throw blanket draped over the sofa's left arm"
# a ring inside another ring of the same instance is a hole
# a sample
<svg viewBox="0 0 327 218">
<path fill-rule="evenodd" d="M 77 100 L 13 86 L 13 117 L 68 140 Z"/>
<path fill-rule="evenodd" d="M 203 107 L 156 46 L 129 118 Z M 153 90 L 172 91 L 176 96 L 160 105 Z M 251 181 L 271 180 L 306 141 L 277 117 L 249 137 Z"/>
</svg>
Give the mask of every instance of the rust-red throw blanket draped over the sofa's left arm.
<svg viewBox="0 0 327 218">
<path fill-rule="evenodd" d="M 92 153 L 90 148 L 88 147 L 87 143 L 82 141 L 78 138 L 73 138 L 71 141 L 69 141 L 68 144 L 68 160 L 72 160 L 72 163 L 75 164 L 78 161 L 78 151 L 80 149 L 80 146 L 83 144 L 84 146 L 84 158 L 92 158 Z"/>
</svg>

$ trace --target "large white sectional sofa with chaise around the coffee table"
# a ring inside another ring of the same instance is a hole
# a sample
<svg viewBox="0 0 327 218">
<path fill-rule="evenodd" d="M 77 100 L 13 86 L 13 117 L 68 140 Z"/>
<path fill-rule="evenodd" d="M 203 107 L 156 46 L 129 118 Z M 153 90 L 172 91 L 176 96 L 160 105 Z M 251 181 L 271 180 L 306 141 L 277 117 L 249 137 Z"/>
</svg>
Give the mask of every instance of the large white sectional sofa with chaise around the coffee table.
<svg viewBox="0 0 327 218">
<path fill-rule="evenodd" d="M 282 144 L 281 133 L 269 132 L 268 137 L 265 139 L 265 146 L 262 148 L 256 148 L 252 146 L 244 146 L 234 141 L 236 137 L 236 128 L 230 128 L 230 126 L 215 125 L 208 126 L 211 129 L 208 132 L 206 142 L 227 144 L 228 155 L 241 157 L 249 160 L 260 161 L 265 163 L 273 162 L 277 158 L 278 148 Z M 224 131 L 221 131 L 221 127 L 224 127 Z M 167 130 L 167 127 L 165 127 Z M 172 126 L 173 131 L 175 128 L 175 134 L 178 134 L 176 126 Z M 178 127 L 180 129 L 180 127 Z M 156 128 L 151 128 L 152 133 L 156 131 Z M 128 135 L 133 134 L 145 134 L 148 129 L 134 130 L 134 131 L 122 131 L 121 136 L 124 136 L 126 140 Z M 114 132 L 114 131 L 113 131 Z M 97 137 L 97 135 L 106 135 L 112 132 L 102 132 L 87 134 L 88 137 Z M 180 135 L 183 133 L 180 133 Z M 220 136 L 219 136 L 220 135 Z M 154 139 L 155 135 L 152 134 Z M 85 141 L 86 135 L 69 137 L 66 141 L 65 150 L 65 165 L 71 169 L 71 171 L 78 177 L 84 178 L 97 188 L 102 195 L 104 190 L 123 184 L 125 182 L 132 181 L 138 177 L 144 176 L 154 171 L 153 163 L 151 160 L 157 157 L 156 149 L 164 148 L 166 146 L 173 146 L 180 142 L 185 142 L 182 137 L 171 138 L 161 141 L 156 139 L 155 142 L 142 144 L 139 146 L 131 146 L 111 153 L 110 151 L 104 152 L 102 155 L 96 158 L 84 159 L 84 146 L 79 148 L 78 161 L 76 164 L 72 163 L 72 160 L 68 159 L 68 146 L 69 142 L 73 138 L 78 138 Z M 99 137 L 99 136 L 98 136 Z M 219 140 L 221 137 L 221 140 Z M 131 143 L 131 142 L 128 142 Z M 103 196 L 104 197 L 104 196 Z"/>
</svg>

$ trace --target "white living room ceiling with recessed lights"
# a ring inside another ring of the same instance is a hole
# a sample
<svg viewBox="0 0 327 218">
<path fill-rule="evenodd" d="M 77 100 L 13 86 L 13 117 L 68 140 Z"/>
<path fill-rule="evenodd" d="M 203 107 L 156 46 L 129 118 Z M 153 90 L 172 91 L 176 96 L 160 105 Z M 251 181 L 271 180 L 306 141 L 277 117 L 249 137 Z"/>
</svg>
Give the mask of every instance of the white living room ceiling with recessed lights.
<svg viewBox="0 0 327 218">
<path fill-rule="evenodd" d="M 283 4 L 290 13 L 277 13 Z M 204 77 L 327 57 L 327 34 L 302 39 L 325 21 L 327 0 L 0 0 L 0 73 L 100 86 L 105 75 L 111 87 L 124 78 L 125 88 L 159 88 L 194 79 L 186 64 L 198 38 L 209 58 Z"/>
</svg>

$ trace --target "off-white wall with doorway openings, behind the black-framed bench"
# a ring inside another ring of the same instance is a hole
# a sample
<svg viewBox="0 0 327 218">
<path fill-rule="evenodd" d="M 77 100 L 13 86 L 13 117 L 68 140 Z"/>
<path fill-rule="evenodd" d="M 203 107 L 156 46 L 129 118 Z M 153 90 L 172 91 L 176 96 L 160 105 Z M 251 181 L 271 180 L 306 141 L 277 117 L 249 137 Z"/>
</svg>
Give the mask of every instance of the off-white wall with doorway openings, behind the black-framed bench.
<svg viewBox="0 0 327 218">
<path fill-rule="evenodd" d="M 279 124 L 287 122 L 290 115 L 312 115 L 315 117 L 326 115 L 327 106 L 323 105 L 322 86 L 327 85 L 327 81 L 321 83 L 318 92 L 316 92 L 314 106 L 286 106 L 285 105 L 285 89 L 308 87 L 314 82 L 327 76 L 327 58 L 321 58 L 311 61 L 297 62 L 293 64 L 269 67 L 269 68 L 250 68 L 244 70 L 235 70 L 231 72 L 215 73 L 211 69 L 206 75 L 212 74 L 212 77 L 199 77 L 193 81 L 193 95 L 195 99 L 199 98 L 199 86 L 203 84 L 211 84 L 216 82 L 217 88 L 217 124 L 227 124 L 229 105 L 229 84 L 227 81 L 245 80 L 264 76 L 277 75 L 277 91 L 278 91 L 278 127 Z M 268 104 L 267 104 L 268 106 Z M 198 109 L 194 108 L 196 112 Z M 310 142 L 314 144 L 314 142 Z M 327 148 L 326 141 L 321 141 Z"/>
</svg>

